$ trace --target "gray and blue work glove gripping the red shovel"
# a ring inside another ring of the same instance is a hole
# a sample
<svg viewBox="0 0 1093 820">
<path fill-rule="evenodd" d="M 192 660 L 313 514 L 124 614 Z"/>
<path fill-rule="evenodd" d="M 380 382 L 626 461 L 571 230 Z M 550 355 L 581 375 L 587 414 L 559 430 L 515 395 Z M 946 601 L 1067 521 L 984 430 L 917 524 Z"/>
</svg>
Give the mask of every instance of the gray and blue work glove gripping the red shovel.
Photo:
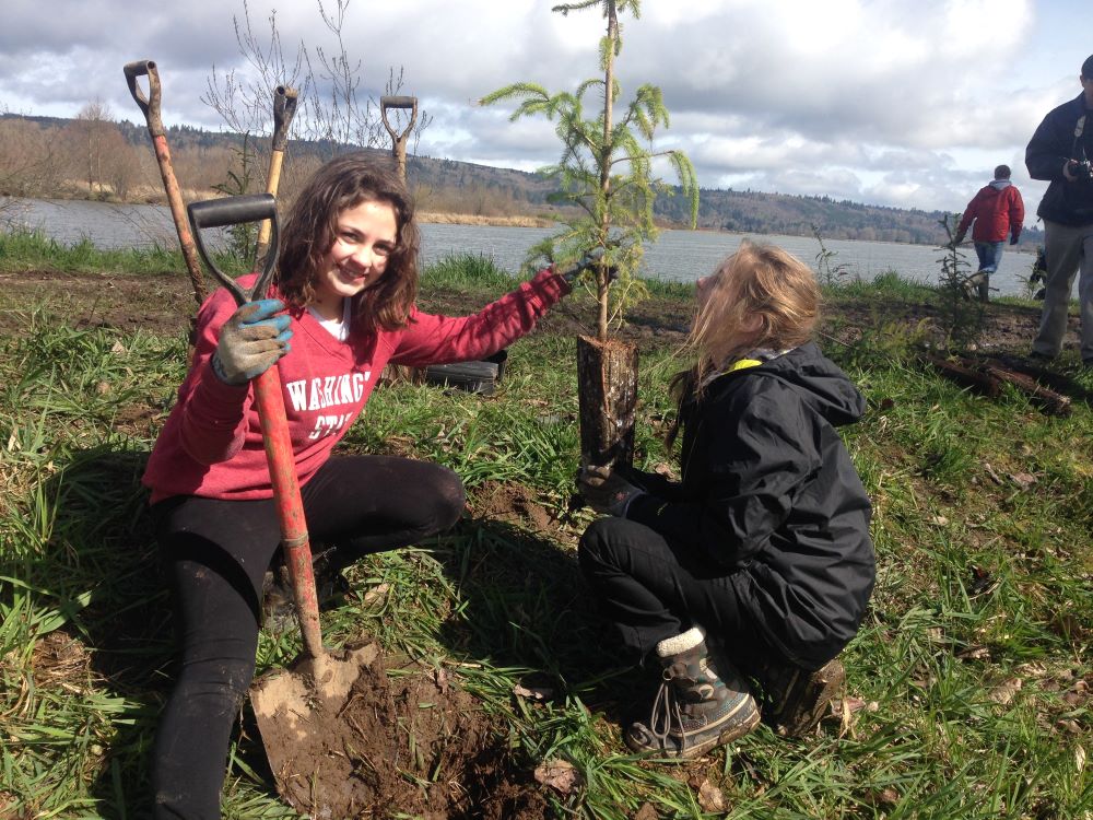
<svg viewBox="0 0 1093 820">
<path fill-rule="evenodd" d="M 283 309 L 279 298 L 248 302 L 224 323 L 212 354 L 212 370 L 221 382 L 245 385 L 289 352 L 289 316 L 274 315 Z"/>
</svg>

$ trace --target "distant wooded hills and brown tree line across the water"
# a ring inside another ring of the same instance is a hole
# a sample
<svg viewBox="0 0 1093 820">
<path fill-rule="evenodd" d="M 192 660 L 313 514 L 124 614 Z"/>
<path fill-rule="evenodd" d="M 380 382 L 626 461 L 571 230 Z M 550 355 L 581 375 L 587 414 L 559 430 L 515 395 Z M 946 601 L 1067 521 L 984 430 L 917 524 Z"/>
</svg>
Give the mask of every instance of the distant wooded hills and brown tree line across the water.
<svg viewBox="0 0 1093 820">
<path fill-rule="evenodd" d="M 172 126 L 167 142 L 184 197 L 197 199 L 225 190 L 233 175 L 244 188 L 263 190 L 261 175 L 247 166 L 261 166 L 269 147 L 252 137 Z M 291 200 L 302 180 L 339 150 L 329 141 L 290 142 L 281 198 Z M 411 156 L 407 174 L 423 211 L 560 215 L 546 201 L 551 184 L 536 174 L 428 156 Z M 97 102 L 84 106 L 74 119 L 0 114 L 0 196 L 164 201 L 148 129 L 127 119 L 115 121 L 109 108 Z M 667 226 L 684 225 L 689 208 L 686 197 L 660 196 L 654 211 Z M 830 239 L 941 245 L 945 242 L 939 224 L 943 215 L 825 196 L 703 189 L 698 226 L 790 236 L 811 236 L 815 226 Z M 1022 242 L 1042 244 L 1043 233 L 1029 229 Z"/>
</svg>

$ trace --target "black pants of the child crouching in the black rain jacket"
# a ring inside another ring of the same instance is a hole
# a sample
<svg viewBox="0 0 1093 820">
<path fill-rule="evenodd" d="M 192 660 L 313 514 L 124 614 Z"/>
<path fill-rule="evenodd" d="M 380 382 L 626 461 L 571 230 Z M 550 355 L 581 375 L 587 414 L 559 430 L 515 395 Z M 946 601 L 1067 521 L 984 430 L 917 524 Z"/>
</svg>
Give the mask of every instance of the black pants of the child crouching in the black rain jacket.
<svg viewBox="0 0 1093 820">
<path fill-rule="evenodd" d="M 635 661 L 695 625 L 745 669 L 776 655 L 732 576 L 693 547 L 671 543 L 644 524 L 607 517 L 585 530 L 578 558 L 600 609 Z"/>
</svg>

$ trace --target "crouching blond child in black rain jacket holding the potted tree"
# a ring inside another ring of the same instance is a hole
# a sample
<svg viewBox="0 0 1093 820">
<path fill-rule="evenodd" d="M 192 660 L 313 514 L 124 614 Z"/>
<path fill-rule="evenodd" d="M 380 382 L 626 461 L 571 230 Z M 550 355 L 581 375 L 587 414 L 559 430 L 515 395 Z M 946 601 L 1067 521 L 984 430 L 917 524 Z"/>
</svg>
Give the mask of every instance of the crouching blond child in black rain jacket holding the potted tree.
<svg viewBox="0 0 1093 820">
<path fill-rule="evenodd" d="M 837 427 L 866 402 L 810 341 L 812 271 L 743 243 L 697 283 L 673 393 L 679 482 L 585 466 L 578 487 L 607 513 L 580 567 L 623 645 L 656 653 L 663 682 L 635 751 L 692 758 L 751 730 L 813 728 L 844 680 L 875 578 L 871 506 Z"/>
</svg>

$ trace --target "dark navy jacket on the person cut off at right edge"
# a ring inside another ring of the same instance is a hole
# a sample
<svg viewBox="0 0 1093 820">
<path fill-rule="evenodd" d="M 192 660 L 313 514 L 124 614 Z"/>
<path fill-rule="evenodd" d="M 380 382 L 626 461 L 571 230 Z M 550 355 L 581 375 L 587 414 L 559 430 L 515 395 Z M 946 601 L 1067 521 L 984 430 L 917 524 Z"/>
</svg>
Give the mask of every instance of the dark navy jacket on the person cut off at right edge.
<svg viewBox="0 0 1093 820">
<path fill-rule="evenodd" d="M 1078 136 L 1078 120 L 1083 116 Z M 1084 92 L 1044 117 L 1025 149 L 1025 166 L 1033 179 L 1050 180 L 1037 216 L 1072 227 L 1093 224 L 1093 179 L 1068 183 L 1062 175 L 1068 160 L 1093 160 L 1093 112 L 1085 108 Z"/>
</svg>

